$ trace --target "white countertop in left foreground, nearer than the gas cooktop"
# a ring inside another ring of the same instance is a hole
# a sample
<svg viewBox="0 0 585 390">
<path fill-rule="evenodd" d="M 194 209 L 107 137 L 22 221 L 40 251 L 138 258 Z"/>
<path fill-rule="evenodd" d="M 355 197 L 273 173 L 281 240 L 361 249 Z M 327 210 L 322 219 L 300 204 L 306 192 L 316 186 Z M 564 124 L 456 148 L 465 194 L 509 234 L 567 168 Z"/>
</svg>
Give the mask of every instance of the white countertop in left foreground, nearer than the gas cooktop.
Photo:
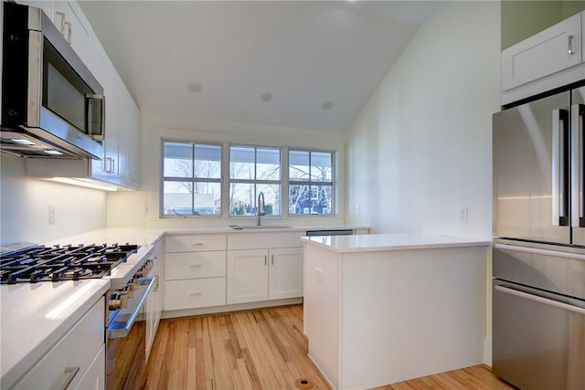
<svg viewBox="0 0 585 390">
<path fill-rule="evenodd" d="M 3 285 L 0 387 L 13 385 L 109 288 L 108 279 Z"/>
</svg>

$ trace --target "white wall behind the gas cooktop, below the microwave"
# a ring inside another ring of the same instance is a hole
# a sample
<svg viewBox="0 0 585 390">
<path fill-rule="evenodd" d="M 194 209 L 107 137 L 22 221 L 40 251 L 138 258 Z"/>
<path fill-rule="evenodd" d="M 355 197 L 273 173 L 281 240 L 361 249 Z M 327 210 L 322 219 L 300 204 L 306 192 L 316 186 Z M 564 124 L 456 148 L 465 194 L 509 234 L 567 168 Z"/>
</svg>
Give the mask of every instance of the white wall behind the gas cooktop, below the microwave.
<svg viewBox="0 0 585 390">
<path fill-rule="evenodd" d="M 103 191 L 28 178 L 25 159 L 0 153 L 0 245 L 44 243 L 106 225 Z M 55 224 L 48 224 L 48 206 Z M 74 243 L 75 244 L 75 243 Z"/>
</svg>

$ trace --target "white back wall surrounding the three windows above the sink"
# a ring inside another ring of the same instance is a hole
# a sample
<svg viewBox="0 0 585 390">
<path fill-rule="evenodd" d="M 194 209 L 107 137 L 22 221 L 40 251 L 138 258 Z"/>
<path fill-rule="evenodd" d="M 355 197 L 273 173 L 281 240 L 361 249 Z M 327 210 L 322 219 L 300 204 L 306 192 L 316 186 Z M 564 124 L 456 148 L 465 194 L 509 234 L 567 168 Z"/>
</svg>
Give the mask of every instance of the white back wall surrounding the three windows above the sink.
<svg viewBox="0 0 585 390">
<path fill-rule="evenodd" d="M 269 146 L 297 146 L 337 150 L 342 162 L 337 168 L 339 205 L 337 216 L 274 218 L 263 217 L 263 223 L 282 223 L 295 226 L 339 225 L 345 221 L 345 134 L 311 129 L 252 125 L 229 121 L 205 121 L 144 113 L 141 146 L 141 188 L 137 192 L 118 192 L 108 195 L 109 227 L 201 227 L 255 223 L 255 217 L 159 217 L 159 194 L 162 170 L 162 139 L 199 142 L 238 142 Z M 148 209 L 148 214 L 145 213 Z"/>
</svg>

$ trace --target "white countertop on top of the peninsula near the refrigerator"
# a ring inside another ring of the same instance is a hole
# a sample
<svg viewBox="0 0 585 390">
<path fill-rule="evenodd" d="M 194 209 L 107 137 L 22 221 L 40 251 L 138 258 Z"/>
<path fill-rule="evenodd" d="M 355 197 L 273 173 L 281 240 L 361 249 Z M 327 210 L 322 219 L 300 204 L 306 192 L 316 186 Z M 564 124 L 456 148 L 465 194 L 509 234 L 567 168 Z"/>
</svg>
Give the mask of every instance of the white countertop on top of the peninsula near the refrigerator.
<svg viewBox="0 0 585 390">
<path fill-rule="evenodd" d="M 490 241 L 466 237 L 432 234 L 373 234 L 356 236 L 302 237 L 307 245 L 327 248 L 338 253 L 378 252 L 430 248 L 456 248 L 488 246 Z"/>
</svg>

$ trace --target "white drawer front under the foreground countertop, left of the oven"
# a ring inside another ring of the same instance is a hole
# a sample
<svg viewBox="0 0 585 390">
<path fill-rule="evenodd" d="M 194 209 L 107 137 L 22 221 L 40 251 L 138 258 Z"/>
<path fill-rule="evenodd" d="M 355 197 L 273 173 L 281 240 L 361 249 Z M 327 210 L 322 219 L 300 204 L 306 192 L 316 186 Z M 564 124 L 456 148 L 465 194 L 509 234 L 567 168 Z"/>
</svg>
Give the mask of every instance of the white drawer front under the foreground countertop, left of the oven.
<svg viewBox="0 0 585 390">
<path fill-rule="evenodd" d="M 41 361 L 33 367 L 16 388 L 74 388 L 90 367 L 104 344 L 105 303 L 103 298 L 83 317 Z M 72 370 L 66 372 L 66 370 Z"/>
</svg>

